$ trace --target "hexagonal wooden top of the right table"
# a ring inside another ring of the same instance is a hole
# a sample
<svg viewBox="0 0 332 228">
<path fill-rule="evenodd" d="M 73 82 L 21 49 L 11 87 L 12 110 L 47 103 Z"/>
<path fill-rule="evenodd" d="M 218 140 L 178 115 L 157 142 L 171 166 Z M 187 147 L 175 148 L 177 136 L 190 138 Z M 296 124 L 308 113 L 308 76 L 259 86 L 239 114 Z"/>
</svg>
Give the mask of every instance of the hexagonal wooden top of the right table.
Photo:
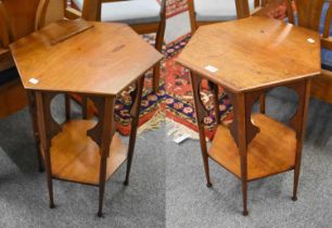
<svg viewBox="0 0 332 228">
<path fill-rule="evenodd" d="M 232 92 L 320 73 L 320 36 L 267 17 L 201 26 L 178 62 Z"/>
</svg>

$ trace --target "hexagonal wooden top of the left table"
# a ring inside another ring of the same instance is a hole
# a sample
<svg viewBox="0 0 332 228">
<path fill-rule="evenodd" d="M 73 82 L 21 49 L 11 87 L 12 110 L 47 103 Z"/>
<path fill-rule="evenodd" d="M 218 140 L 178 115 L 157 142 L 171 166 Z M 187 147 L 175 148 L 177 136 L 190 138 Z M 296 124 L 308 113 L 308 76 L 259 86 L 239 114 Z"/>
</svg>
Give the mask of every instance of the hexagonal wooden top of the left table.
<svg viewBox="0 0 332 228">
<path fill-rule="evenodd" d="M 56 42 L 86 24 L 61 21 L 10 46 L 26 89 L 115 96 L 163 58 L 117 23 L 91 22 L 93 27 Z"/>
</svg>

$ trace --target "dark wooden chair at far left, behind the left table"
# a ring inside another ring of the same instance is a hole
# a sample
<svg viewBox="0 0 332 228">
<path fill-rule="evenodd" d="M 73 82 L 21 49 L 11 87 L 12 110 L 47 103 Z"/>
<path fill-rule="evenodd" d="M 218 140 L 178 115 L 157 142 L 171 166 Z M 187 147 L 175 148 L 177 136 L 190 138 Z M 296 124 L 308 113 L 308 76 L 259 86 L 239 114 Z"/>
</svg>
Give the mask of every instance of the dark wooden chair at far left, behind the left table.
<svg viewBox="0 0 332 228">
<path fill-rule="evenodd" d="M 49 3 L 58 4 L 58 0 L 0 0 L 0 118 L 11 115 L 28 104 L 28 96 L 20 80 L 20 75 L 9 51 L 9 45 L 61 17 L 59 12 L 49 12 Z M 52 11 L 53 12 L 53 11 Z M 33 119 L 35 110 L 30 106 Z M 35 132 L 36 125 L 34 124 Z M 42 161 L 39 152 L 39 140 L 36 137 L 39 168 Z"/>
</svg>

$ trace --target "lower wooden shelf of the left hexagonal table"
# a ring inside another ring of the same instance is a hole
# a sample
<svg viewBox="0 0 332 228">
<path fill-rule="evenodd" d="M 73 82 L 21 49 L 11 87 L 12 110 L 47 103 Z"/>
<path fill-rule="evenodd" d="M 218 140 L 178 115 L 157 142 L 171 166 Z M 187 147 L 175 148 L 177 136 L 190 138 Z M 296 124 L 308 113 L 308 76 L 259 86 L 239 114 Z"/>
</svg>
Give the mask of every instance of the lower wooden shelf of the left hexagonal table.
<svg viewBox="0 0 332 228">
<path fill-rule="evenodd" d="M 88 185 L 99 185 L 100 149 L 87 136 L 87 130 L 95 126 L 94 121 L 72 121 L 53 137 L 51 163 L 53 178 Z M 106 179 L 127 160 L 127 147 L 114 135 L 110 157 L 107 159 Z"/>
</svg>

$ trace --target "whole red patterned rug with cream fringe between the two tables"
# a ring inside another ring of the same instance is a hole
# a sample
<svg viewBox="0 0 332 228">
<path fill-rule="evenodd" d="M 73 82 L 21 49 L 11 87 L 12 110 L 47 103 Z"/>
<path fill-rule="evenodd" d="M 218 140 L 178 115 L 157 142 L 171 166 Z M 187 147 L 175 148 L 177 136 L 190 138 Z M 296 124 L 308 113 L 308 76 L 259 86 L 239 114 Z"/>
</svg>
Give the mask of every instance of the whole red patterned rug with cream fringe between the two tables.
<svg viewBox="0 0 332 228">
<path fill-rule="evenodd" d="M 183 3 L 183 1 L 170 1 L 170 5 L 177 3 L 180 4 L 181 2 Z M 269 12 L 269 15 L 272 17 L 281 18 L 284 16 L 284 10 L 282 8 Z M 173 11 L 173 13 L 176 13 L 176 11 Z M 155 37 L 152 35 L 145 35 L 143 38 L 152 46 L 155 42 Z M 196 136 L 197 125 L 194 114 L 194 103 L 189 72 L 181 65 L 176 64 L 178 54 L 186 47 L 190 38 L 191 34 L 188 34 L 168 43 L 167 46 L 164 46 L 163 52 L 165 60 L 162 62 L 159 91 L 157 93 L 152 91 L 152 72 L 146 73 L 144 92 L 141 103 L 139 131 L 154 129 L 158 127 L 161 122 L 166 119 L 167 122 L 171 122 L 171 128 L 182 131 L 180 134 L 188 134 L 188 129 L 190 129 L 189 134 L 191 136 Z M 129 135 L 130 132 L 129 109 L 131 98 L 129 92 L 133 88 L 130 87 L 122 92 L 116 101 L 115 117 L 117 122 L 117 129 L 122 135 Z M 222 92 L 222 88 L 219 88 L 219 113 L 221 119 L 224 122 L 230 122 L 232 119 L 232 106 L 230 104 L 230 100 Z M 207 116 L 204 122 L 206 126 L 206 137 L 212 139 L 216 124 L 213 94 L 208 89 L 207 81 L 202 83 L 201 97 L 205 106 L 207 110 L 209 110 L 209 116 Z"/>
</svg>

